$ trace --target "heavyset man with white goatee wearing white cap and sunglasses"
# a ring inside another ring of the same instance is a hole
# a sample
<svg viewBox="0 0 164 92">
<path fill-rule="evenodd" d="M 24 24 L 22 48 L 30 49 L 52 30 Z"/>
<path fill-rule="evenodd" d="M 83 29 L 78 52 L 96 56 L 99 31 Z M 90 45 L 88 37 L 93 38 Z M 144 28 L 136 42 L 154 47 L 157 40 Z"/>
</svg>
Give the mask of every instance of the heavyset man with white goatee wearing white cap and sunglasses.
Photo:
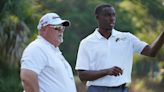
<svg viewBox="0 0 164 92">
<path fill-rule="evenodd" d="M 39 35 L 21 58 L 20 77 L 25 92 L 76 92 L 72 69 L 58 48 L 69 25 L 56 13 L 40 19 Z"/>
</svg>

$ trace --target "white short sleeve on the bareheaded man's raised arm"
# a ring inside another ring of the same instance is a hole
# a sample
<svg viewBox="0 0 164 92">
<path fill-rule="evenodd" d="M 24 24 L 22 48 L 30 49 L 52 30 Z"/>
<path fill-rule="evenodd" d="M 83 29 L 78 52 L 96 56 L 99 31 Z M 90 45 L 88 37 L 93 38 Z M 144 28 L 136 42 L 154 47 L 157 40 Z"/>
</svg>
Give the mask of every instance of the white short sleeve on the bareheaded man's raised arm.
<svg viewBox="0 0 164 92">
<path fill-rule="evenodd" d="M 141 52 L 144 49 L 144 47 L 146 45 L 148 45 L 148 44 L 146 42 L 144 42 L 144 41 L 141 41 L 140 39 L 138 39 L 136 36 L 134 36 L 131 33 L 129 33 L 129 36 L 130 36 L 130 40 L 131 40 L 131 42 L 133 44 L 133 52 L 141 54 Z"/>
</svg>

